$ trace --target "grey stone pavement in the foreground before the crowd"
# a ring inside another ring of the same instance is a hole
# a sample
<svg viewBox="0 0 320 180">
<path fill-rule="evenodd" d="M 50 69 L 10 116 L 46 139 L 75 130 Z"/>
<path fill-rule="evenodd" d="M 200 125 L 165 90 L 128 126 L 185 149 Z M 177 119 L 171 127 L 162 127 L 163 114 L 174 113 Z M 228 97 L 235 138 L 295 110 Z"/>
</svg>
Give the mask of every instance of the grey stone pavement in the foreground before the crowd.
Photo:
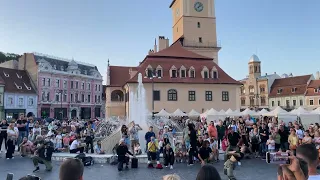
<svg viewBox="0 0 320 180">
<path fill-rule="evenodd" d="M 20 177 L 32 174 L 34 169 L 31 159 L 16 157 L 13 160 L 6 160 L 4 153 L 0 156 L 0 177 L 3 179 L 7 173 L 14 173 L 14 180 Z M 40 165 L 41 171 L 35 173 L 43 180 L 57 180 L 59 174 L 59 162 L 54 162 L 52 172 L 45 172 L 44 166 Z M 223 175 L 223 163 L 214 164 L 218 169 L 223 180 L 227 180 Z M 129 169 L 118 172 L 116 166 L 95 164 L 91 167 L 85 167 L 84 180 L 161 180 L 166 174 L 176 173 L 183 180 L 195 180 L 200 165 L 188 167 L 186 164 L 175 164 L 174 169 L 147 169 L 146 164 L 139 164 L 138 169 Z M 235 170 L 235 176 L 240 180 L 274 180 L 277 174 L 275 165 L 266 164 L 260 159 L 243 160 L 242 165 Z"/>
</svg>

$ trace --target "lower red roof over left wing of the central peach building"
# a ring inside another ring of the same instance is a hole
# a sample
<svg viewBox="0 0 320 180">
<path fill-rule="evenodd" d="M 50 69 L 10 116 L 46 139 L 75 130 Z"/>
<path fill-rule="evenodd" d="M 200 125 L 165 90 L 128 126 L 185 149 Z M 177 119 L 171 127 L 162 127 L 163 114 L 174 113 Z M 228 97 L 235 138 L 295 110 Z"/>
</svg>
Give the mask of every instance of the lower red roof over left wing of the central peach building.
<svg viewBox="0 0 320 180">
<path fill-rule="evenodd" d="M 129 69 L 136 67 L 110 66 L 110 85 L 109 87 L 123 86 L 130 79 Z"/>
</svg>

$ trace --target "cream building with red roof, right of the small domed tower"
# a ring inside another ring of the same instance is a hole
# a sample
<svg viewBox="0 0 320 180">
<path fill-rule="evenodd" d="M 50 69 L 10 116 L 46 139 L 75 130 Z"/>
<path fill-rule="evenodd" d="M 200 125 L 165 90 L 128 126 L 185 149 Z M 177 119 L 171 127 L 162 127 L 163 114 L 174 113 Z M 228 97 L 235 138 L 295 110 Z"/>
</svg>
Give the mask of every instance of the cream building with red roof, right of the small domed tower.
<svg viewBox="0 0 320 180">
<path fill-rule="evenodd" d="M 313 75 L 292 76 L 276 79 L 270 90 L 269 106 L 281 106 L 288 111 L 299 106 L 306 107 L 305 94 Z"/>
</svg>

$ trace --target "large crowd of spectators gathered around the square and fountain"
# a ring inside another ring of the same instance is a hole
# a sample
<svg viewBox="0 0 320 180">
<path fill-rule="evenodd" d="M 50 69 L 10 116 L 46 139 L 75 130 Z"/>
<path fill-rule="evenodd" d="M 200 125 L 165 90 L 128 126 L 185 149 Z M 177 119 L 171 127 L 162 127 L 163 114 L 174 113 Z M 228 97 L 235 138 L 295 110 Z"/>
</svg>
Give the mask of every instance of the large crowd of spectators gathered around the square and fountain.
<svg viewBox="0 0 320 180">
<path fill-rule="evenodd" d="M 185 162 L 189 166 L 200 163 L 205 166 L 218 162 L 219 152 L 223 152 L 224 172 L 229 179 L 236 179 L 233 170 L 236 165 L 241 165 L 243 158 L 265 160 L 266 152 L 288 152 L 305 159 L 309 167 L 309 179 L 318 177 L 314 176 L 316 170 L 310 170 L 310 163 L 313 163 L 315 168 L 318 165 L 318 159 L 311 160 L 318 158 L 320 152 L 318 123 L 305 127 L 298 120 L 286 124 L 276 117 L 262 116 L 226 118 L 209 123 L 206 119 L 186 119 L 183 122 L 185 125 L 182 128 L 181 140 L 177 139 L 176 128 L 168 124 L 162 124 L 158 134 L 155 134 L 150 126 L 144 140 L 139 139 L 138 134 L 142 128 L 138 124 L 132 122 L 128 126 L 123 125 L 122 139 L 115 148 L 118 170 L 122 171 L 123 165 L 128 168 L 128 155 L 135 157 L 143 152 L 148 156 L 148 168 L 154 168 L 153 164 L 156 164 L 157 169 L 163 168 L 161 157 L 164 166 L 173 169 L 174 163 Z M 89 153 L 90 150 L 91 153 L 103 154 L 101 143 L 93 143 L 98 125 L 98 120 L 46 122 L 25 117 L 10 122 L 2 120 L 0 148 L 4 142 L 7 159 L 14 158 L 16 149 L 22 157 L 31 156 L 34 172 L 39 170 L 39 163 L 44 164 L 46 170 L 50 171 L 53 152 Z M 146 148 L 141 149 L 140 143 L 145 143 Z M 316 151 L 312 157 L 306 155 L 308 151 L 304 150 L 308 145 L 314 146 Z M 285 167 L 283 169 L 281 172 L 287 170 Z"/>
</svg>

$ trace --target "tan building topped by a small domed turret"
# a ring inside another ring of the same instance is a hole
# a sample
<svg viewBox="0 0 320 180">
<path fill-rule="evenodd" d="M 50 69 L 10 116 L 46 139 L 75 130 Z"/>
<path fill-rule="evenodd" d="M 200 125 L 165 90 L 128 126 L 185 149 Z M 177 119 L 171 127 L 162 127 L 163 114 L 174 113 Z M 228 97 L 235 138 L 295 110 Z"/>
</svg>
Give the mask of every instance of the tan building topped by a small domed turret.
<svg viewBox="0 0 320 180">
<path fill-rule="evenodd" d="M 268 96 L 270 87 L 275 79 L 280 78 L 277 73 L 261 75 L 261 61 L 257 55 L 252 55 L 248 62 L 249 75 L 240 80 L 241 109 L 269 108 Z"/>
</svg>

